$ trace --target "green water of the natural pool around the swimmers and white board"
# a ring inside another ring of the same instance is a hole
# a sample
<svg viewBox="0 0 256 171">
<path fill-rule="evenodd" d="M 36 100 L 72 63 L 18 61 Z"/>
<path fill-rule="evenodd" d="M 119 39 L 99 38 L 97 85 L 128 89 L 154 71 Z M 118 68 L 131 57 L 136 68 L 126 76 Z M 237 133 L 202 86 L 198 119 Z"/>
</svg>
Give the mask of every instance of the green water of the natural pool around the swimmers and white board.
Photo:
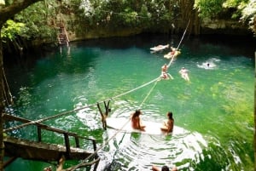
<svg viewBox="0 0 256 171">
<path fill-rule="evenodd" d="M 160 67 L 170 61 L 163 57 L 167 51 L 151 54 L 149 48 L 160 43 L 177 47 L 179 41 L 164 36 L 90 40 L 54 49 L 34 63 L 11 65 L 7 75 L 16 96 L 13 112 L 36 120 L 138 88 L 159 77 Z M 254 43 L 186 37 L 168 70 L 173 80 L 111 100 L 109 117 L 129 117 L 141 108 L 143 120 L 161 123 L 166 111 L 172 111 L 179 128 L 172 136 L 119 133 L 109 140 L 116 131 L 102 129 L 95 105 L 44 123 L 93 137 L 98 147 L 106 143 L 99 151 L 98 170 L 110 162 L 111 170 L 150 170 L 152 164 L 176 165 L 179 170 L 253 170 Z M 190 82 L 178 74 L 182 66 L 189 69 Z M 34 138 L 35 130 L 13 134 Z M 6 170 L 46 166 L 49 163 L 18 159 Z"/>
</svg>

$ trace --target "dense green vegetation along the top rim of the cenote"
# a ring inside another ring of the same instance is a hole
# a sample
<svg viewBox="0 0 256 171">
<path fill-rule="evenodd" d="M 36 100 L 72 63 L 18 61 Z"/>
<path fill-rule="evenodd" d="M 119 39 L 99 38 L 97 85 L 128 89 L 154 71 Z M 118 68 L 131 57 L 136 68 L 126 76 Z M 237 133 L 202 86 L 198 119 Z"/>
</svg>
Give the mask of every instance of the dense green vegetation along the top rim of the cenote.
<svg viewBox="0 0 256 171">
<path fill-rule="evenodd" d="M 1 0 L 1 3 L 4 7 L 12 1 Z M 236 20 L 256 31 L 255 0 L 44 0 L 8 20 L 3 26 L 1 37 L 6 46 L 11 43 L 16 49 L 20 48 L 20 43 L 24 43 L 23 40 L 53 42 L 56 37 L 55 21 L 60 20 L 63 14 L 75 16 L 72 20 L 66 20 L 73 29 L 78 27 L 75 24 L 79 20 L 87 30 L 102 27 L 113 31 L 122 28 L 168 31 L 183 20 L 187 23 L 191 10 L 201 20 Z M 194 25 L 197 24 L 195 17 L 192 17 Z"/>
</svg>

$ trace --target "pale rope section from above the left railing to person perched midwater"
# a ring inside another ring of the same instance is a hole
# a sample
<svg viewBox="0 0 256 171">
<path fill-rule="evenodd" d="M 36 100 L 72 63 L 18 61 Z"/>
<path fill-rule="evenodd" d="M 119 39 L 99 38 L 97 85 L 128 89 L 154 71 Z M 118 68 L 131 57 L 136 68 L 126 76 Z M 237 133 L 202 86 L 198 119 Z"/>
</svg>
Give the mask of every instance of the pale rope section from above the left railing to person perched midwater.
<svg viewBox="0 0 256 171">
<path fill-rule="evenodd" d="M 116 95 L 116 96 L 110 98 L 110 100 L 113 100 L 113 99 L 118 98 L 118 97 L 120 97 L 120 96 L 123 96 L 123 95 L 125 95 L 125 94 L 129 94 L 129 93 L 131 93 L 131 92 L 133 92 L 133 91 L 135 91 L 135 90 L 137 90 L 137 89 L 139 89 L 139 88 L 143 88 L 143 87 L 147 86 L 147 85 L 150 84 L 150 83 L 154 83 L 154 81 L 156 81 L 156 80 L 158 80 L 158 79 L 159 79 L 159 77 L 155 78 L 154 80 L 152 80 L 152 81 L 150 81 L 150 82 L 148 82 L 148 83 L 144 83 L 143 85 L 141 85 L 141 86 L 139 86 L 139 87 L 137 87 L 137 88 L 131 89 L 130 91 L 125 92 L 124 94 Z M 103 103 L 104 101 L 106 101 L 106 100 L 103 100 L 103 101 L 101 101 L 100 103 Z M 3 129 L 3 132 L 7 132 L 7 131 L 14 130 L 14 129 L 18 129 L 18 128 L 23 128 L 23 127 L 26 127 L 26 126 L 28 126 L 28 125 L 32 125 L 32 124 L 34 124 L 34 123 L 42 123 L 42 122 L 47 121 L 47 120 L 49 120 L 49 119 L 53 119 L 53 118 L 56 118 L 56 117 L 62 117 L 62 116 L 65 116 L 65 115 L 67 115 L 67 114 L 69 114 L 69 113 L 71 113 L 71 112 L 80 111 L 80 110 L 83 110 L 83 109 L 88 108 L 88 107 L 93 106 L 93 105 L 97 105 L 97 103 L 95 103 L 95 104 L 90 104 L 90 105 L 85 105 L 85 106 L 83 106 L 83 107 L 74 109 L 74 110 L 72 110 L 72 111 L 64 111 L 64 112 L 61 112 L 61 113 L 59 113 L 59 114 L 57 114 L 57 115 L 50 116 L 50 117 L 44 117 L 44 118 L 42 118 L 42 119 L 38 119 L 38 120 L 32 121 L 32 122 L 30 122 L 30 123 L 23 123 L 23 124 L 20 124 L 19 126 L 15 126 L 15 127 L 12 127 L 12 128 L 6 128 L 6 129 Z"/>
</svg>

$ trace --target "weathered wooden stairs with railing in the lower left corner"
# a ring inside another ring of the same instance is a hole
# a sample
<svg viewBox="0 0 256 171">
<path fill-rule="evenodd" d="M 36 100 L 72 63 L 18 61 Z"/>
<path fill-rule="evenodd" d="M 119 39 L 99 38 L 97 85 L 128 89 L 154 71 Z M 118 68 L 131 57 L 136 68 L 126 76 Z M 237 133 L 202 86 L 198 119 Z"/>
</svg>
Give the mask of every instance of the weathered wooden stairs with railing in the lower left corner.
<svg viewBox="0 0 256 171">
<path fill-rule="evenodd" d="M 84 160 L 84 158 L 90 157 L 94 154 L 93 156 L 96 162 L 93 170 L 96 171 L 98 162 L 100 160 L 96 153 L 96 140 L 82 137 L 79 136 L 79 134 L 70 133 L 58 128 L 52 128 L 43 123 L 33 123 L 31 120 L 22 117 L 15 117 L 7 114 L 3 115 L 3 123 L 5 126 L 12 125 L 10 123 L 15 122 L 32 123 L 32 125 L 36 128 L 38 139 L 25 140 L 15 138 L 12 134 L 7 133 L 9 131 L 5 132 L 6 135 L 3 138 L 5 146 L 4 156 L 10 157 L 10 162 L 8 161 L 4 163 L 4 167 L 13 162 L 17 157 L 21 157 L 26 160 L 57 162 L 62 156 L 65 157 L 66 160 Z M 55 133 L 55 136 L 62 137 L 65 145 L 55 144 L 52 142 L 49 143 L 47 140 L 45 141 L 44 137 L 47 132 L 52 132 Z M 83 141 L 87 141 L 87 143 L 89 142 L 90 144 L 86 149 L 82 147 Z"/>
</svg>

